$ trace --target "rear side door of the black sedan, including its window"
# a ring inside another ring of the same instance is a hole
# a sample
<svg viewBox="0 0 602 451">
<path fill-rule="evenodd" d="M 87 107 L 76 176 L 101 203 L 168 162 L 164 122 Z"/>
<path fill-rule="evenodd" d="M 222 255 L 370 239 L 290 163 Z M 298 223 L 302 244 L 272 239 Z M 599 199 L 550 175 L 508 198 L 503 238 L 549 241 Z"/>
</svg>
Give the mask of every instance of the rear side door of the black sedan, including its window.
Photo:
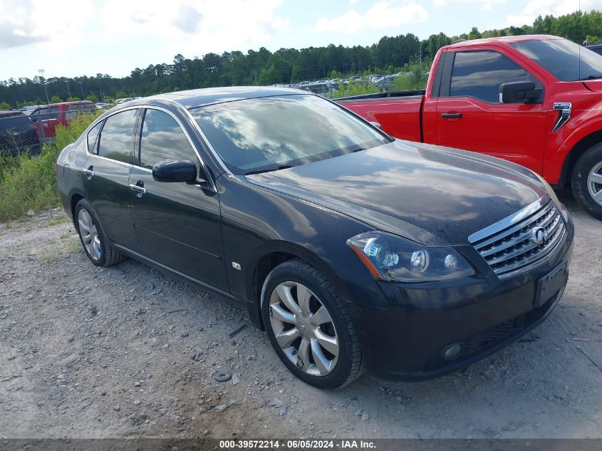
<svg viewBox="0 0 602 451">
<path fill-rule="evenodd" d="M 81 170 L 85 197 L 103 231 L 111 242 L 131 250 L 138 249 L 128 187 L 138 114 L 139 108 L 133 108 L 108 116 L 95 140 L 90 135 L 98 130 L 90 130 L 90 155 Z"/>
</svg>

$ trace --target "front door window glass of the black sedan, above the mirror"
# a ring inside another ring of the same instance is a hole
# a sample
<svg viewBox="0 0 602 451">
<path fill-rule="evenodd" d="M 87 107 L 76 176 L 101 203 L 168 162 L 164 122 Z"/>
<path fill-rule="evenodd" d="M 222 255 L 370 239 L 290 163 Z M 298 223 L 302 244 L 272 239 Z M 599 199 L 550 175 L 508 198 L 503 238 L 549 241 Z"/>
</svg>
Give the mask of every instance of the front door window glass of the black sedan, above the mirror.
<svg viewBox="0 0 602 451">
<path fill-rule="evenodd" d="M 140 166 L 152 169 L 163 160 L 190 160 L 197 156 L 180 124 L 159 110 L 146 110 L 140 136 Z"/>
</svg>

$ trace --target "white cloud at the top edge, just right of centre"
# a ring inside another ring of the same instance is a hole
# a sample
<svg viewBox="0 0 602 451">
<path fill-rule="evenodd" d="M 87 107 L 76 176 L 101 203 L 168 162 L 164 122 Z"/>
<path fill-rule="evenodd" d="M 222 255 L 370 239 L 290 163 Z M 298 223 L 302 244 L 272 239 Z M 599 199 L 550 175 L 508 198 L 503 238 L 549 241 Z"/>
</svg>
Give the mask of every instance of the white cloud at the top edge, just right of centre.
<svg viewBox="0 0 602 451">
<path fill-rule="evenodd" d="M 402 6 L 391 6 L 388 1 L 379 1 L 365 14 L 355 9 L 345 14 L 328 19 L 319 18 L 311 28 L 311 33 L 334 31 L 336 33 L 355 33 L 365 28 L 390 28 L 412 22 L 422 22 L 428 17 L 428 11 L 420 4 L 408 3 Z"/>
</svg>

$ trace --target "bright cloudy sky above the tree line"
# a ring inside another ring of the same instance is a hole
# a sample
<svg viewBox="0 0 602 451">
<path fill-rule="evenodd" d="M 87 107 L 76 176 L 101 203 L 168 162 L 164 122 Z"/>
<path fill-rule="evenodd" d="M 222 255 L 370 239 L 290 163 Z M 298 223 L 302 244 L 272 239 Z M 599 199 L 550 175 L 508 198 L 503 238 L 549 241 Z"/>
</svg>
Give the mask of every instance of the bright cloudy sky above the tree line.
<svg viewBox="0 0 602 451">
<path fill-rule="evenodd" d="M 0 80 L 128 76 L 134 68 L 260 47 L 424 39 L 536 16 L 602 10 L 602 0 L 0 0 Z"/>
</svg>

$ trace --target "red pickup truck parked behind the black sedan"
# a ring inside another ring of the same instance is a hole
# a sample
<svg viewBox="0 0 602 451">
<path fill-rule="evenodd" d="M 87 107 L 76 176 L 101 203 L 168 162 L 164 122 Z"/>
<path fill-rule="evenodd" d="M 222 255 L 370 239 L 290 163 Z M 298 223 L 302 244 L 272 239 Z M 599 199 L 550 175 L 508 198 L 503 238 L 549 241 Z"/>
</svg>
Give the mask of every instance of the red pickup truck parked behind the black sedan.
<svg viewBox="0 0 602 451">
<path fill-rule="evenodd" d="M 602 219 L 602 57 L 556 36 L 461 41 L 426 90 L 336 100 L 395 138 L 473 150 L 571 184 Z"/>
</svg>

